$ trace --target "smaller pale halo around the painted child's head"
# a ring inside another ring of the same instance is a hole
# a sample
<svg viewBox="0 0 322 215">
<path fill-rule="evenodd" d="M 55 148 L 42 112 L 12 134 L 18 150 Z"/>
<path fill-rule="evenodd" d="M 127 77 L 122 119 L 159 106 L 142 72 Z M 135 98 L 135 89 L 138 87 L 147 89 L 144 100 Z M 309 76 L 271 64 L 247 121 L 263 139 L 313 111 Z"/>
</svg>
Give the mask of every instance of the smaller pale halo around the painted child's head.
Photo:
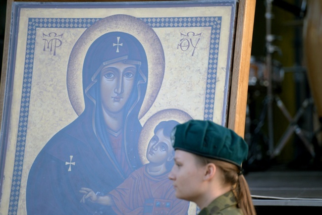
<svg viewBox="0 0 322 215">
<path fill-rule="evenodd" d="M 190 119 L 192 119 L 192 117 L 188 113 L 179 109 L 164 109 L 153 114 L 143 125 L 142 131 L 140 134 L 138 151 L 139 151 L 141 162 L 143 164 L 146 164 L 149 162 L 146 157 L 149 141 L 154 135 L 155 127 L 161 121 L 175 120 L 179 123 L 184 123 Z"/>
</svg>

